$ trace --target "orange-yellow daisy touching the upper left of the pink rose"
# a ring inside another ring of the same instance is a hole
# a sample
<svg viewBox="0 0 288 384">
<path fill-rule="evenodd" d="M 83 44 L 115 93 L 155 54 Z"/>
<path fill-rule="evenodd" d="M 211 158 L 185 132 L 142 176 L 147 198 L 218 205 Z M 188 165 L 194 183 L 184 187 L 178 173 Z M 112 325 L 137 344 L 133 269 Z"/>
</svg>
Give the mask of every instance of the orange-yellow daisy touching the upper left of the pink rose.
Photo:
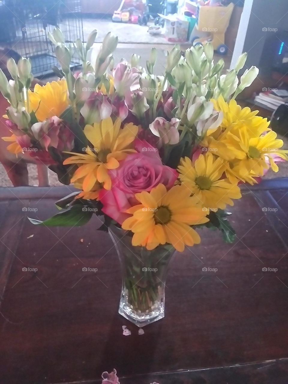
<svg viewBox="0 0 288 384">
<path fill-rule="evenodd" d="M 93 126 L 86 125 L 84 134 L 92 144 L 85 153 L 65 152 L 73 156 L 68 157 L 63 164 L 77 164 L 71 182 L 81 182 L 84 192 L 94 190 L 96 182 L 103 183 L 105 189 L 111 189 L 109 169 L 119 167 L 119 161 L 125 159 L 128 153 L 136 152 L 133 149 L 138 127 L 129 123 L 120 129 L 121 121 L 117 119 L 114 124 L 109 117 Z"/>
</svg>

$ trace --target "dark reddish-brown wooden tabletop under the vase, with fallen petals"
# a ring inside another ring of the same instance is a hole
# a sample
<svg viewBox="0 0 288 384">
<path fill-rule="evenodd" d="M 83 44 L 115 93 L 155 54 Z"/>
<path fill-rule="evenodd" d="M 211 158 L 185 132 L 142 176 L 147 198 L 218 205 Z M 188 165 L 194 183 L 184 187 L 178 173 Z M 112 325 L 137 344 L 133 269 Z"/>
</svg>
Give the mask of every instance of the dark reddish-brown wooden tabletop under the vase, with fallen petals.
<svg viewBox="0 0 288 384">
<path fill-rule="evenodd" d="M 142 335 L 118 314 L 119 262 L 99 218 L 27 219 L 58 212 L 70 190 L 0 189 L 0 384 L 92 384 L 113 368 L 121 384 L 288 383 L 288 179 L 243 187 L 234 244 L 203 229 L 199 246 L 177 253 L 166 316 Z"/>
</svg>

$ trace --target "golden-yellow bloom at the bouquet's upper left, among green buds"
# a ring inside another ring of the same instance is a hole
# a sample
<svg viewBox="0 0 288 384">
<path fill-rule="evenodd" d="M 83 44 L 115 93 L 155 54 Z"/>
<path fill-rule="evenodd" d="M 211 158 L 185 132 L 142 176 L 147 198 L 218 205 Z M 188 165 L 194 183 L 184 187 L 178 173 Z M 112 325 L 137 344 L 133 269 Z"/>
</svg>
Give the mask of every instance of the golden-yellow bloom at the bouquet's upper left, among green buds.
<svg viewBox="0 0 288 384">
<path fill-rule="evenodd" d="M 38 121 L 60 116 L 69 105 L 66 79 L 51 81 L 46 85 L 35 84 L 28 92 L 29 109 L 34 111 Z"/>
</svg>

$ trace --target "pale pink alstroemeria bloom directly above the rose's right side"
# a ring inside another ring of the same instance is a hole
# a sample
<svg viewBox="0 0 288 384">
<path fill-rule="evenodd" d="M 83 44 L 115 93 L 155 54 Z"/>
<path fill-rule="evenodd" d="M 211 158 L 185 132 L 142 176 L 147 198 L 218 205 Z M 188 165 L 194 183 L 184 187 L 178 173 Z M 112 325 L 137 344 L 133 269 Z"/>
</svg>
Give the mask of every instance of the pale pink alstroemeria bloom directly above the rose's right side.
<svg viewBox="0 0 288 384">
<path fill-rule="evenodd" d="M 172 118 L 167 121 L 164 118 L 156 118 L 150 125 L 151 132 L 159 137 L 159 147 L 163 144 L 177 144 L 179 142 L 179 119 Z"/>
</svg>

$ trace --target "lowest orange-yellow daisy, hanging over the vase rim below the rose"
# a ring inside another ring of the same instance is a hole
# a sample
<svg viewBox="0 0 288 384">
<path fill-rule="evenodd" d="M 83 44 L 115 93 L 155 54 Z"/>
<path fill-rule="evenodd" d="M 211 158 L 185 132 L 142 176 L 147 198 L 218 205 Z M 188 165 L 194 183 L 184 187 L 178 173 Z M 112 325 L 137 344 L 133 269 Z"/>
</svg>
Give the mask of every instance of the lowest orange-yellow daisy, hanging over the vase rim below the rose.
<svg viewBox="0 0 288 384">
<path fill-rule="evenodd" d="M 207 211 L 195 203 L 185 185 L 174 185 L 167 192 L 159 184 L 150 193 L 143 191 L 135 197 L 141 204 L 127 210 L 133 216 L 122 224 L 123 229 L 134 233 L 132 245 L 152 250 L 168 243 L 182 252 L 185 245 L 200 243 L 198 233 L 190 225 L 208 222 Z"/>
</svg>

